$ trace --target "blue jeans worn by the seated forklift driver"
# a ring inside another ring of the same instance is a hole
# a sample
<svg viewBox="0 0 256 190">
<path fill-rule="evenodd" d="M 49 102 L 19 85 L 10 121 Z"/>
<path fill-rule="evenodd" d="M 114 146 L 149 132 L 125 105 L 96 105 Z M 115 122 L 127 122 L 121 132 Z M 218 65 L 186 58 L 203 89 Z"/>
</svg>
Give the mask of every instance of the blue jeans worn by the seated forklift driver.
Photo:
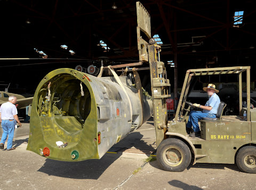
<svg viewBox="0 0 256 190">
<path fill-rule="evenodd" d="M 202 111 L 190 111 L 187 127 L 191 128 L 193 126 L 193 129 L 195 132 L 200 131 L 199 125 L 198 125 L 198 119 L 200 120 L 200 119 L 203 119 L 204 117 L 216 118 L 216 115 L 203 113 Z"/>
</svg>

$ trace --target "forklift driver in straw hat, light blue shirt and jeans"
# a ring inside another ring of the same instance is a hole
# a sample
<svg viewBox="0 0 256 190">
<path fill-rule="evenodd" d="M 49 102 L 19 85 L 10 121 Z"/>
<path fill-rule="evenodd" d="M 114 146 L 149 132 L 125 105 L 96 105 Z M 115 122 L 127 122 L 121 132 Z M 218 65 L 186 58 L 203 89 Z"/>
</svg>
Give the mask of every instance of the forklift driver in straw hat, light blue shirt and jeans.
<svg viewBox="0 0 256 190">
<path fill-rule="evenodd" d="M 198 119 L 203 119 L 204 117 L 215 118 L 220 104 L 220 98 L 216 94 L 219 90 L 215 89 L 214 84 L 208 84 L 203 90 L 207 92 L 209 100 L 205 103 L 205 106 L 194 103 L 193 106 L 201 108 L 203 111 L 191 111 L 188 118 L 186 131 L 192 137 L 201 137 Z"/>
</svg>

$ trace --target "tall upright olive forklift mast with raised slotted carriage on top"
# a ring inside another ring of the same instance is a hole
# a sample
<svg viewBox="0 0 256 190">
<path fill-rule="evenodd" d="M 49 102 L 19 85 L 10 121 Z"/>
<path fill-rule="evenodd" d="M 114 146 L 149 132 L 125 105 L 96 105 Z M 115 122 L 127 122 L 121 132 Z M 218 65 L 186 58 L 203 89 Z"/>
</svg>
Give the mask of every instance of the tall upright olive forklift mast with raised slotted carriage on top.
<svg viewBox="0 0 256 190">
<path fill-rule="evenodd" d="M 149 64 L 154 126 L 156 131 L 156 144 L 158 146 L 165 139 L 164 134 L 167 131 L 166 98 L 171 97 L 167 90 L 167 87 L 170 86 L 170 82 L 169 79 L 167 79 L 165 65 L 160 61 L 161 46 L 156 44 L 154 38 L 151 38 L 150 15 L 140 2 L 136 3 L 136 7 L 139 58 L 141 63 Z M 149 39 L 148 42 L 142 38 L 141 32 Z"/>
</svg>

